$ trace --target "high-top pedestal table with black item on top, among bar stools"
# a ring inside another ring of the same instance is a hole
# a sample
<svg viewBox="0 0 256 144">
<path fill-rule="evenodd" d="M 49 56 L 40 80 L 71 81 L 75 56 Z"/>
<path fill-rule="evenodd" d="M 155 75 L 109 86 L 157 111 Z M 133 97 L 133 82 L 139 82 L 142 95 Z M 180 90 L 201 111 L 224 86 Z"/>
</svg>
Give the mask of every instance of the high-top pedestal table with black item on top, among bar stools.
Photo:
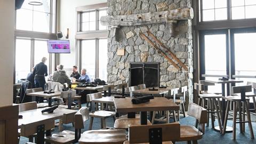
<svg viewBox="0 0 256 144">
<path fill-rule="evenodd" d="M 226 97 L 226 94 L 225 94 L 225 84 L 227 85 L 227 95 L 230 95 L 230 93 L 229 93 L 229 85 L 230 84 L 234 84 L 234 83 L 243 83 L 244 81 L 237 80 L 237 79 L 228 79 L 228 81 L 205 80 L 205 82 L 221 84 L 222 96 Z M 222 99 L 222 119 L 221 119 L 222 127 L 223 127 L 223 123 L 224 123 L 224 119 L 225 119 L 225 111 L 226 111 L 226 100 Z M 219 126 L 214 127 L 214 129 L 217 130 L 217 131 L 220 131 L 219 130 Z M 226 127 L 226 132 L 232 132 L 232 131 L 233 131 L 232 127 L 229 127 L 229 126 Z"/>
</svg>

